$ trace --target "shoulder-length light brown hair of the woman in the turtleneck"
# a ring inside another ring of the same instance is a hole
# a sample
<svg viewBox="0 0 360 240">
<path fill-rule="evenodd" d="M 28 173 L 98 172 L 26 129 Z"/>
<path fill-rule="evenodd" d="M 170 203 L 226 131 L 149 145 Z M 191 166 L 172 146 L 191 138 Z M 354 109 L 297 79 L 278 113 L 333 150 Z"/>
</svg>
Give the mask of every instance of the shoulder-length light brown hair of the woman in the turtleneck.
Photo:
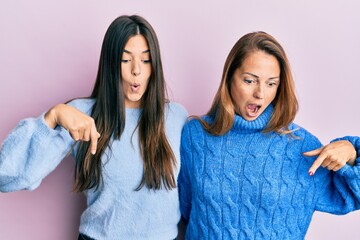
<svg viewBox="0 0 360 240">
<path fill-rule="evenodd" d="M 274 112 L 264 132 L 290 133 L 288 126 L 298 110 L 294 80 L 290 64 L 279 42 L 265 32 L 252 32 L 241 37 L 231 49 L 224 65 L 222 80 L 207 115 L 214 118 L 209 124 L 197 118 L 211 134 L 227 133 L 234 123 L 235 107 L 231 99 L 230 86 L 235 70 L 241 67 L 245 58 L 254 51 L 264 51 L 274 56 L 280 65 L 280 85 L 272 104 Z"/>
</svg>

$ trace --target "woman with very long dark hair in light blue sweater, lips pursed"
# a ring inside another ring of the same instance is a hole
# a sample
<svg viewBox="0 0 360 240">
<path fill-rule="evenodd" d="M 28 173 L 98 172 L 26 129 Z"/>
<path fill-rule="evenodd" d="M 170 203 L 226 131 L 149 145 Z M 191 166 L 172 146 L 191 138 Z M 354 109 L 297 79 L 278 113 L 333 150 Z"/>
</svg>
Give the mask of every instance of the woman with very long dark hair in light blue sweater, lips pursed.
<svg viewBox="0 0 360 240">
<path fill-rule="evenodd" d="M 71 151 L 74 189 L 87 197 L 79 239 L 176 238 L 180 134 L 188 114 L 166 99 L 159 49 L 144 18 L 115 19 L 91 96 L 21 121 L 4 141 L 0 191 L 38 187 Z"/>
</svg>

